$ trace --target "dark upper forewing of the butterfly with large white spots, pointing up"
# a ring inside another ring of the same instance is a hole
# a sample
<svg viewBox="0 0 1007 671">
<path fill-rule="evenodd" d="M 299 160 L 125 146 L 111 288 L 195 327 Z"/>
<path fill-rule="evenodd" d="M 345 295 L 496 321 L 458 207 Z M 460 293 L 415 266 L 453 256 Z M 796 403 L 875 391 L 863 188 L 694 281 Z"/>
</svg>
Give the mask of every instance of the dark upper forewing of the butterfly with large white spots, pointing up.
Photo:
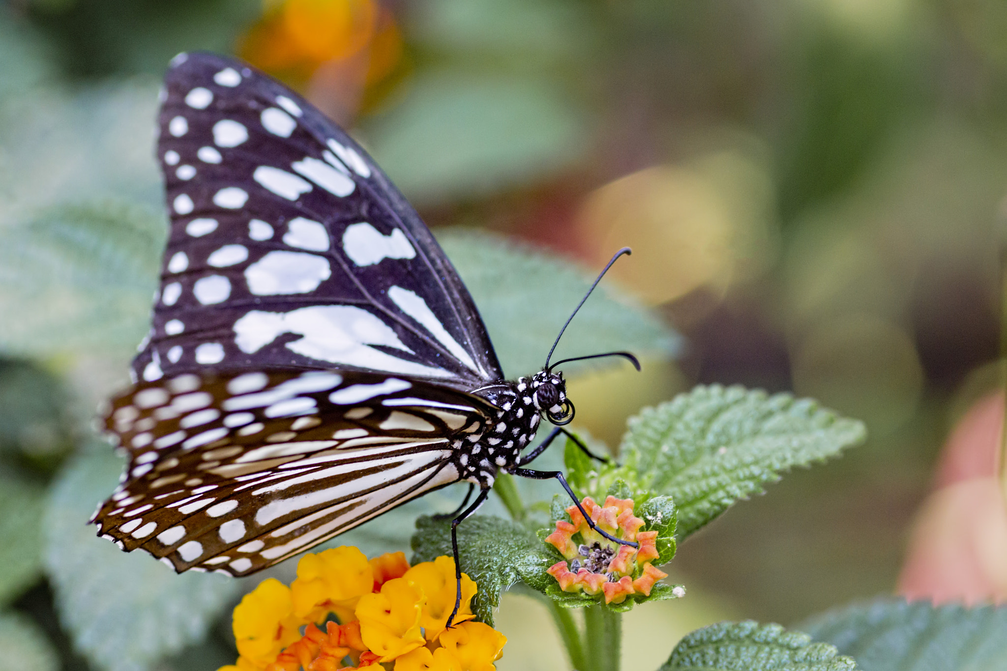
<svg viewBox="0 0 1007 671">
<path fill-rule="evenodd" d="M 219 56 L 174 61 L 158 160 L 171 230 L 154 381 L 193 369 L 502 378 L 467 290 L 371 157 L 303 99 Z"/>
</svg>

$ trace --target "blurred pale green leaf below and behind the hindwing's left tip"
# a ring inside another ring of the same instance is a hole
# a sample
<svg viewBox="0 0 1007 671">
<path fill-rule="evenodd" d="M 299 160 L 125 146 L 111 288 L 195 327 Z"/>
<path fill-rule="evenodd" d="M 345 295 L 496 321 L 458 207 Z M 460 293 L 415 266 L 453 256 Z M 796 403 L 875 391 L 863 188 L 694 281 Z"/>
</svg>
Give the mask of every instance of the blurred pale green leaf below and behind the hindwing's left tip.
<svg viewBox="0 0 1007 671">
<path fill-rule="evenodd" d="M 98 669 L 143 671 L 200 641 L 248 585 L 212 573 L 178 575 L 145 552 L 98 538 L 87 521 L 121 469 L 104 444 L 67 463 L 45 516 L 44 561 L 75 647 Z"/>
</svg>

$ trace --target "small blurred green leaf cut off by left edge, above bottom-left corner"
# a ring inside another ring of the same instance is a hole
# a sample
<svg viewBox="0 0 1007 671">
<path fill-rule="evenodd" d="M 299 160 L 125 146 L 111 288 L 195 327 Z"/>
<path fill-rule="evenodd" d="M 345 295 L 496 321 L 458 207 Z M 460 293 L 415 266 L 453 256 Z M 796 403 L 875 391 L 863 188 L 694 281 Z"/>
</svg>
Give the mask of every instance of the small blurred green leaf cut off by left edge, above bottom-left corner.
<svg viewBox="0 0 1007 671">
<path fill-rule="evenodd" d="M 0 606 L 39 575 L 44 501 L 41 486 L 0 473 Z"/>
</svg>

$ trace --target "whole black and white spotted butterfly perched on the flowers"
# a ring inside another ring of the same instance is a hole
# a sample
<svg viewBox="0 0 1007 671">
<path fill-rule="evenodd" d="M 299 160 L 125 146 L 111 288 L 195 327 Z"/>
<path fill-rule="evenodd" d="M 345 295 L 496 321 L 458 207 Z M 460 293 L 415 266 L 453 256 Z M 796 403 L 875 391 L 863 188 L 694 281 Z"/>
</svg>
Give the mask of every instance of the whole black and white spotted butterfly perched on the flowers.
<svg viewBox="0 0 1007 671">
<path fill-rule="evenodd" d="M 444 253 L 344 132 L 206 53 L 174 58 L 158 121 L 171 230 L 107 417 L 130 463 L 100 535 L 247 575 L 455 482 L 455 526 L 500 471 L 565 486 L 522 468 L 541 416 L 572 418 L 562 373 L 503 379 Z"/>
</svg>

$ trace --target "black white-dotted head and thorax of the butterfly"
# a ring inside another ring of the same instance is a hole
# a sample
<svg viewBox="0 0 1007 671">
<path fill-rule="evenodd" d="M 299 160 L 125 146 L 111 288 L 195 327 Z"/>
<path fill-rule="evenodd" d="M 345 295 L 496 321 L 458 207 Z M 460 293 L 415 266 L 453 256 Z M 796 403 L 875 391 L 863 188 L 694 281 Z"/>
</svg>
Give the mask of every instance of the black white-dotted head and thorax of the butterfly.
<svg viewBox="0 0 1007 671">
<path fill-rule="evenodd" d="M 492 486 L 497 471 L 518 466 L 522 451 L 535 440 L 543 413 L 562 423 L 572 407 L 562 373 L 546 370 L 473 393 L 495 405 L 496 414 L 477 431 L 459 433 L 451 447 L 458 452 L 461 479 L 479 486 Z"/>
</svg>

